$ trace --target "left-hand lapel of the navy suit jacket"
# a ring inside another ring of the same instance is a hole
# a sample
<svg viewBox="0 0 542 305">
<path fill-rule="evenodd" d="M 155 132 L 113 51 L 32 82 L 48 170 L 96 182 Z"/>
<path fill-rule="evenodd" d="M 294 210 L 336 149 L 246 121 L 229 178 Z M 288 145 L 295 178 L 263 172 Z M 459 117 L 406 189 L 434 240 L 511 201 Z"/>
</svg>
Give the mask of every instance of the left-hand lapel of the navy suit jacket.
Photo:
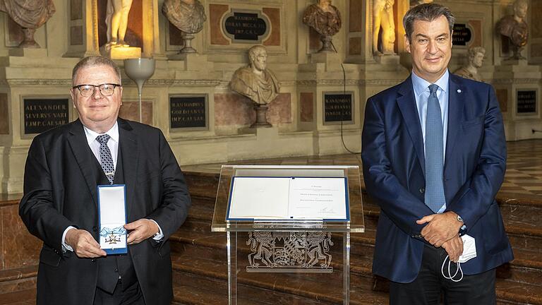
<svg viewBox="0 0 542 305">
<path fill-rule="evenodd" d="M 404 120 L 404 126 L 409 131 L 410 138 L 414 144 L 414 150 L 418 155 L 418 161 L 421 165 L 423 175 L 426 174 L 426 160 L 423 153 L 423 135 L 421 134 L 420 117 L 418 116 L 418 107 L 416 107 L 416 99 L 414 97 L 414 89 L 412 88 L 411 78 L 407 78 L 399 88 L 399 97 L 397 97 L 397 105 L 401 110 Z"/>
</svg>

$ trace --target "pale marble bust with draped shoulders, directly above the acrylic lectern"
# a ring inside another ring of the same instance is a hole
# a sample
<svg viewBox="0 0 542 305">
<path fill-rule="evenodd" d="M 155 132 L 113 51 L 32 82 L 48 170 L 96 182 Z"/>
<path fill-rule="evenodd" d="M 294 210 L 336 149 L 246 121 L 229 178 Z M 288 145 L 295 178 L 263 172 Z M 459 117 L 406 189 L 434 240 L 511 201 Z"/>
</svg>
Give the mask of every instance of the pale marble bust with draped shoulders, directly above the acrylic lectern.
<svg viewBox="0 0 542 305">
<path fill-rule="evenodd" d="M 231 77 L 229 87 L 251 99 L 256 109 L 256 121 L 251 127 L 271 127 L 267 122 L 267 104 L 275 100 L 280 85 L 275 74 L 266 68 L 267 50 L 262 45 L 248 49 L 249 66 L 239 68 Z"/>
</svg>

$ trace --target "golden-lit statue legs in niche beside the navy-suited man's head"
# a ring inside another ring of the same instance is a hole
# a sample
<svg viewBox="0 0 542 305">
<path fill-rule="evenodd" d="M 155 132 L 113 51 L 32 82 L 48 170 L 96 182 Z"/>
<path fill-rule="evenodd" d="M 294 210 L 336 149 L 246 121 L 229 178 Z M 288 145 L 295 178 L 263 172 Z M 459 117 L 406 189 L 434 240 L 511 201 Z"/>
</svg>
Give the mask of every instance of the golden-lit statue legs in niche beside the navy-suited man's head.
<svg viewBox="0 0 542 305">
<path fill-rule="evenodd" d="M 395 23 L 393 22 L 394 0 L 375 0 L 373 2 L 373 54 L 395 54 Z M 382 29 L 382 32 L 380 32 Z M 380 34 L 380 46 L 378 49 L 378 35 Z"/>
</svg>

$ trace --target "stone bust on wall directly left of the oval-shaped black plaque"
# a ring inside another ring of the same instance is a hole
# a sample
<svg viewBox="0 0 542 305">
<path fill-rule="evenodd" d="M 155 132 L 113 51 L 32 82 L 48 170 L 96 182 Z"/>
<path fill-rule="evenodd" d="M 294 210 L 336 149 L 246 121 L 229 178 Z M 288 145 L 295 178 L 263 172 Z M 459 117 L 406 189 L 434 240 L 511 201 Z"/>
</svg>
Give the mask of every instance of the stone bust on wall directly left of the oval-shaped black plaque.
<svg viewBox="0 0 542 305">
<path fill-rule="evenodd" d="M 203 29 L 207 20 L 205 8 L 199 0 L 166 0 L 162 13 L 171 24 L 183 32 L 184 47 L 180 53 L 195 53 L 192 47 L 194 34 Z"/>
</svg>

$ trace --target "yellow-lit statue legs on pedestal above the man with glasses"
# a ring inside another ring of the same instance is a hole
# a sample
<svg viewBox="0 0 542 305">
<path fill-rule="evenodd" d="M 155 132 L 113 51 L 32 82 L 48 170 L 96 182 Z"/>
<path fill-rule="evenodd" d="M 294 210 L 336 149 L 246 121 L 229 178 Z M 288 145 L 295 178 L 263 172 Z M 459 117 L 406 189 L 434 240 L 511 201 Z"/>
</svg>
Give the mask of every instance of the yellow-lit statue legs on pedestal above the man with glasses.
<svg viewBox="0 0 542 305">
<path fill-rule="evenodd" d="M 125 41 L 126 28 L 128 28 L 128 13 L 132 7 L 132 0 L 107 0 L 107 44 L 106 49 L 112 47 L 130 47 Z"/>
</svg>

